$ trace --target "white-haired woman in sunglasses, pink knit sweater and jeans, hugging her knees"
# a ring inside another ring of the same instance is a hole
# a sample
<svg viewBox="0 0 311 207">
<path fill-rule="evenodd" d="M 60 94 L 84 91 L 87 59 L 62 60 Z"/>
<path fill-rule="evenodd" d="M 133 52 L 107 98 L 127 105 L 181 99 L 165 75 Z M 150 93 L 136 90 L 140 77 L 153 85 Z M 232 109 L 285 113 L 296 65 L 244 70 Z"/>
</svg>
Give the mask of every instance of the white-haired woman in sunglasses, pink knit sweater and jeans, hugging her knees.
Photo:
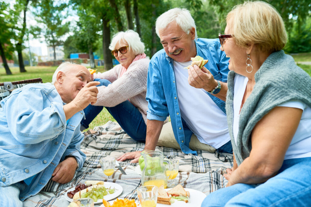
<svg viewBox="0 0 311 207">
<path fill-rule="evenodd" d="M 96 104 L 84 109 L 86 119 L 81 121 L 81 130 L 105 107 L 123 130 L 137 141 L 146 139 L 147 73 L 149 59 L 144 53 L 144 43 L 133 30 L 118 32 L 109 46 L 119 65 L 104 73 L 95 73 L 99 81 Z"/>
</svg>

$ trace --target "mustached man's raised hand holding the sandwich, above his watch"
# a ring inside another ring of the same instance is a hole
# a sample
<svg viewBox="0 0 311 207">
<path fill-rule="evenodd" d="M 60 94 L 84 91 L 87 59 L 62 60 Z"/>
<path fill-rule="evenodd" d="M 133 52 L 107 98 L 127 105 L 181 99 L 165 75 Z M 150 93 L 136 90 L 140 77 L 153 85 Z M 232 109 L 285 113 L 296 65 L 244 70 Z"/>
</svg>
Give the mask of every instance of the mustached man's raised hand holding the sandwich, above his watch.
<svg viewBox="0 0 311 207">
<path fill-rule="evenodd" d="M 194 88 L 203 88 L 206 91 L 211 91 L 217 86 L 214 76 L 205 67 L 200 69 L 197 65 L 190 66 L 188 74 L 188 83 Z"/>
</svg>

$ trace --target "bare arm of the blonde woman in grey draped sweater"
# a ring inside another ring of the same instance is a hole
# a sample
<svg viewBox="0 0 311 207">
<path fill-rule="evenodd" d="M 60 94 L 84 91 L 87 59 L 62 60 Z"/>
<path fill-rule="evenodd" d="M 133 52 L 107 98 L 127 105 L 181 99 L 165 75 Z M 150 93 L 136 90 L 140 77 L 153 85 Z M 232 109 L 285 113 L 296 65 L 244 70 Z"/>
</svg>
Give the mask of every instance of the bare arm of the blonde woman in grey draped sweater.
<svg viewBox="0 0 311 207">
<path fill-rule="evenodd" d="M 275 107 L 265 115 L 253 129 L 249 157 L 232 172 L 227 186 L 258 184 L 275 176 L 283 164 L 301 115 L 301 109 L 290 107 Z"/>
</svg>

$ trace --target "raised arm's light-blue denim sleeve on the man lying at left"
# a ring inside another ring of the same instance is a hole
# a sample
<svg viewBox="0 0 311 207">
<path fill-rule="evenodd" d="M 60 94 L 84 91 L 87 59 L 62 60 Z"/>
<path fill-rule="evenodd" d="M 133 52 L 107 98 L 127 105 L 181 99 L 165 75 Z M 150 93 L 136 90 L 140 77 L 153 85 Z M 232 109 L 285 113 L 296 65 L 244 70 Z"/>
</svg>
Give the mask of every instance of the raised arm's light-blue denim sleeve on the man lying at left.
<svg viewBox="0 0 311 207">
<path fill-rule="evenodd" d="M 5 103 L 7 123 L 15 139 L 35 144 L 53 139 L 66 128 L 63 103 L 46 101 L 39 88 L 28 88 L 11 95 Z"/>
</svg>

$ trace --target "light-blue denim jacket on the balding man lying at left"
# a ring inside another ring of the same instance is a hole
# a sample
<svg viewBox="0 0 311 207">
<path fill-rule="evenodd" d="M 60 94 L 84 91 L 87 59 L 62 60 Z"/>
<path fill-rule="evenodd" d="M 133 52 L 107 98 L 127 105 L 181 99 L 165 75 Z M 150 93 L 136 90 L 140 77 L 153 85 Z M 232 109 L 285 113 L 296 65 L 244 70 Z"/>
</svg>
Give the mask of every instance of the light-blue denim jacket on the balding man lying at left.
<svg viewBox="0 0 311 207">
<path fill-rule="evenodd" d="M 74 156 L 82 168 L 86 159 L 80 150 L 83 110 L 67 124 L 64 103 L 54 85 L 28 84 L 15 89 L 0 104 L 1 187 L 38 174 L 31 187 L 21 191 L 23 201 L 47 184 L 66 156 Z"/>
</svg>

